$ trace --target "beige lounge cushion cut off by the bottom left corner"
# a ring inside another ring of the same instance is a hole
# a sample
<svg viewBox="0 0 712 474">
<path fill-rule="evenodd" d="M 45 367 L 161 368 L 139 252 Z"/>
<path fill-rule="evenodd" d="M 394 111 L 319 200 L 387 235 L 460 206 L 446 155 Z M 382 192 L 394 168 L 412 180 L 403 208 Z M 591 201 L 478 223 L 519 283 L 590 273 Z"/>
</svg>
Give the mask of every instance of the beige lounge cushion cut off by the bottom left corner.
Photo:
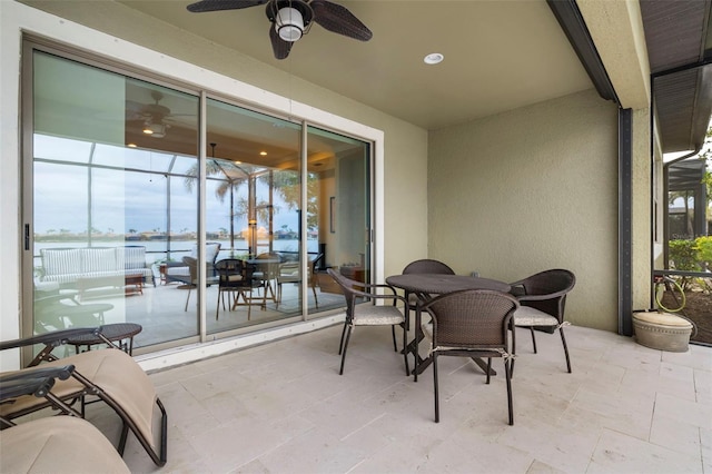
<svg viewBox="0 0 712 474">
<path fill-rule="evenodd" d="M 0 432 L 2 473 L 129 473 L 119 453 L 89 422 L 51 416 Z"/>
</svg>

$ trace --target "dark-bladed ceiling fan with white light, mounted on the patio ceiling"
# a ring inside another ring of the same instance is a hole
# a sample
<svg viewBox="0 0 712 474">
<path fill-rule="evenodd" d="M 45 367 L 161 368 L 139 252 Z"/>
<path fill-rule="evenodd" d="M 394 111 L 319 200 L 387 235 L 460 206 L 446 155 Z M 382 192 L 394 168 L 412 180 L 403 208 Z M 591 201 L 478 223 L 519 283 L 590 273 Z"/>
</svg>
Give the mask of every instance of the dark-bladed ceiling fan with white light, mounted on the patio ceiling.
<svg viewBox="0 0 712 474">
<path fill-rule="evenodd" d="M 348 9 L 328 0 L 201 0 L 189 4 L 188 11 L 239 10 L 265 3 L 270 22 L 269 40 L 277 59 L 289 56 L 294 42 L 309 32 L 313 21 L 332 32 L 360 41 L 373 37 Z"/>
</svg>

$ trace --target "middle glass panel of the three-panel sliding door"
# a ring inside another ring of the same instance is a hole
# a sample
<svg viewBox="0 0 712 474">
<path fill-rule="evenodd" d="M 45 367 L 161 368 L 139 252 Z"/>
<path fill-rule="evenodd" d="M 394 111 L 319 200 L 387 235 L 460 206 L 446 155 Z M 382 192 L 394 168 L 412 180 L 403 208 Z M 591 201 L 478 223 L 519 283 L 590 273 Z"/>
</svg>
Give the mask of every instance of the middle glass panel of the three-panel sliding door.
<svg viewBox="0 0 712 474">
<path fill-rule="evenodd" d="M 216 270 L 208 333 L 299 315 L 298 267 L 283 264 L 300 259 L 300 126 L 208 99 L 207 147 L 207 233 L 221 244 L 218 260 L 239 259 L 251 271 L 237 284 L 250 276 Z"/>
</svg>

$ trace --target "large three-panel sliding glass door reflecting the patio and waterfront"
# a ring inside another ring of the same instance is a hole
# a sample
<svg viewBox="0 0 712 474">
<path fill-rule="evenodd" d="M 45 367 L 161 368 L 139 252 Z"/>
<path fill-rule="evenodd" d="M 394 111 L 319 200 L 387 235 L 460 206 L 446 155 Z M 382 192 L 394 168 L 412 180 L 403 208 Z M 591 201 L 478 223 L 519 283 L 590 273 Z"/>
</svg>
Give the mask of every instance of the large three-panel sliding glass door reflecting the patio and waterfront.
<svg viewBox="0 0 712 474">
<path fill-rule="evenodd" d="M 370 144 L 26 51 L 27 335 L 136 323 L 152 350 L 342 308 L 328 267 L 370 278 Z"/>
</svg>

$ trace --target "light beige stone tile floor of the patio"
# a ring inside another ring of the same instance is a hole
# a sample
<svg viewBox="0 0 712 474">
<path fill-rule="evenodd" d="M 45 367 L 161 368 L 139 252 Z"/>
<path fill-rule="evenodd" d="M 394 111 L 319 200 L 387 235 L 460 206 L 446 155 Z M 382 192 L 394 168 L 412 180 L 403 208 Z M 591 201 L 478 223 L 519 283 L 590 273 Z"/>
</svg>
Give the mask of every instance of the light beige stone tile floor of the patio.
<svg viewBox="0 0 712 474">
<path fill-rule="evenodd" d="M 340 326 L 150 375 L 168 409 L 168 463 L 132 435 L 132 472 L 177 473 L 712 473 L 712 348 L 668 353 L 565 328 L 517 329 L 514 426 L 502 375 L 485 384 L 442 357 L 441 423 L 432 368 L 414 383 L 390 332 L 358 327 L 338 375 Z M 501 359 L 493 362 L 502 369 Z M 500 371 L 503 374 L 503 371 Z M 118 418 L 89 418 L 115 443 Z"/>
</svg>

